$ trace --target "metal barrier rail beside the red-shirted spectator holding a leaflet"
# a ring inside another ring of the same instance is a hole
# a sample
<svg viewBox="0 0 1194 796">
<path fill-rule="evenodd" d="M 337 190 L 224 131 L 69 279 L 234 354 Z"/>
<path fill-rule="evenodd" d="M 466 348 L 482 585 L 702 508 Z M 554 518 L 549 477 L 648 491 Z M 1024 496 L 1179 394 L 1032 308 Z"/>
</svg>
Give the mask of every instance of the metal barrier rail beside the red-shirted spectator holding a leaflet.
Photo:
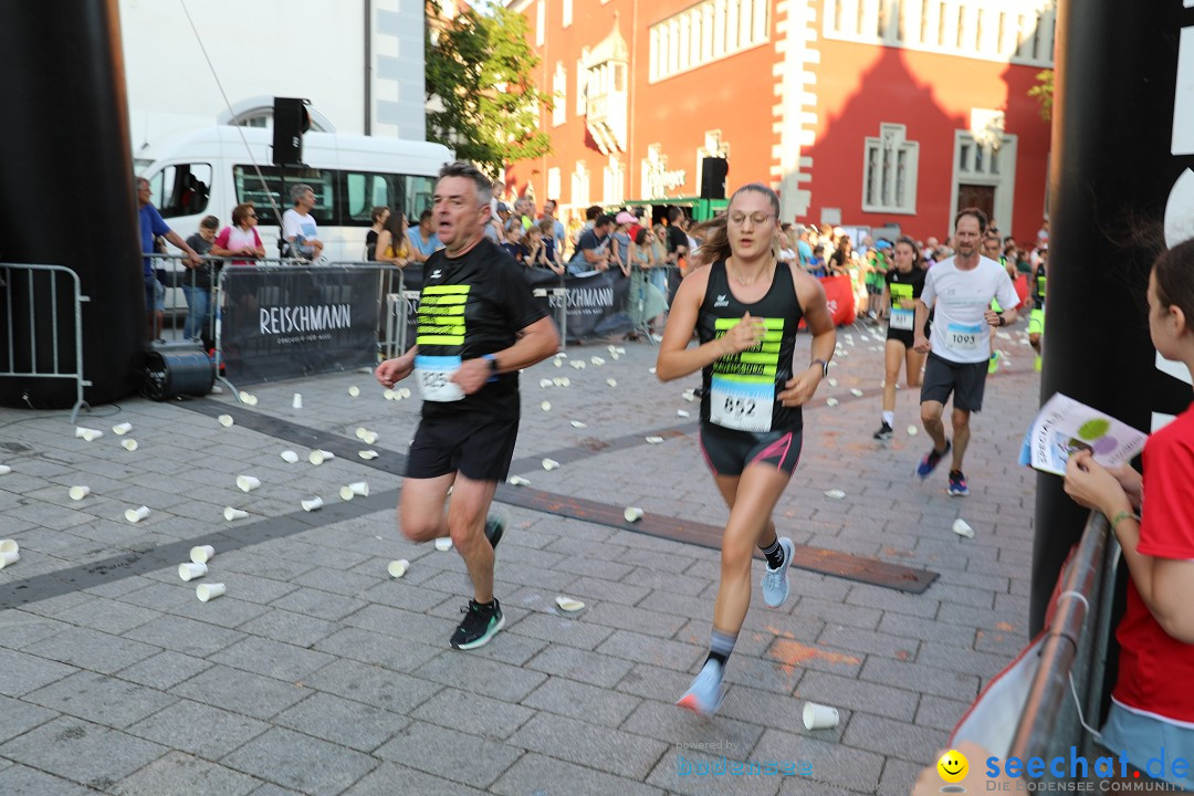
<svg viewBox="0 0 1194 796">
<path fill-rule="evenodd" d="M 1071 746 L 1097 757 L 1083 723 L 1094 726 L 1102 710 L 1119 551 L 1107 518 L 1093 512 L 1058 580 L 1048 636 L 1009 757 L 1067 758 Z"/>
</svg>

